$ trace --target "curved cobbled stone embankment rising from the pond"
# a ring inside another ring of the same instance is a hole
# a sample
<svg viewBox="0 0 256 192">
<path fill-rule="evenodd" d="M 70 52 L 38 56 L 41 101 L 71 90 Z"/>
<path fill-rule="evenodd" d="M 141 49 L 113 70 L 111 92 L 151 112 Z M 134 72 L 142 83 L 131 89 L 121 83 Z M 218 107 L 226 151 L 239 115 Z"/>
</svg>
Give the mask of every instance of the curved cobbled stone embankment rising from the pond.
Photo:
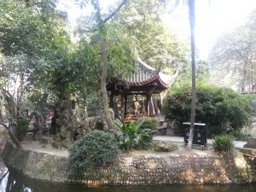
<svg viewBox="0 0 256 192">
<path fill-rule="evenodd" d="M 67 155 L 7 144 L 3 160 L 23 174 L 43 181 L 88 185 L 214 184 L 256 181 L 256 158 L 243 154 L 224 156 L 182 149 L 177 153 L 121 154 L 113 165 L 82 175 L 68 173 Z"/>
</svg>

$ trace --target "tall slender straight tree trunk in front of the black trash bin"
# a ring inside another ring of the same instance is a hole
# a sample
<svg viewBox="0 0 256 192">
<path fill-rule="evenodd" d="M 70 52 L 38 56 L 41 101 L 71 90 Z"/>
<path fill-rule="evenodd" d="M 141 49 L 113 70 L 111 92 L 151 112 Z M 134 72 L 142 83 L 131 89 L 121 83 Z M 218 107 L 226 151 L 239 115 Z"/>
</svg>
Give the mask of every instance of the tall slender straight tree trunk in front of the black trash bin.
<svg viewBox="0 0 256 192">
<path fill-rule="evenodd" d="M 189 143 L 187 148 L 192 148 L 195 129 L 195 0 L 189 0 L 189 23 L 191 35 L 191 65 L 192 65 L 192 99 L 191 120 L 189 130 Z"/>
</svg>

